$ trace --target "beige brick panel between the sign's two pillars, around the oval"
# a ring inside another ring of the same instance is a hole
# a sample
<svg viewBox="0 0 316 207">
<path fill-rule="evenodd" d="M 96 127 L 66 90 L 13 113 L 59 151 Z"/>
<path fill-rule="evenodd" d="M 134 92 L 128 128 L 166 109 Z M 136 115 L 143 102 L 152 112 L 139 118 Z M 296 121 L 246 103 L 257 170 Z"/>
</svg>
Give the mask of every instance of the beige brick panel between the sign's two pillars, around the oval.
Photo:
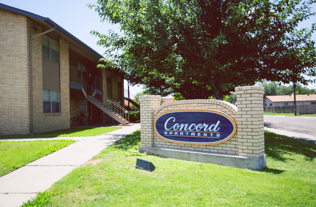
<svg viewBox="0 0 316 207">
<path fill-rule="evenodd" d="M 231 116 L 235 122 L 237 122 L 237 110 L 236 107 L 228 102 L 218 100 L 183 100 L 174 101 L 162 104 L 153 114 L 155 120 L 158 115 L 168 110 L 175 109 L 214 109 L 222 111 L 227 115 Z M 142 109 L 141 109 L 142 111 Z M 142 119 L 142 118 L 141 118 Z M 145 146 L 145 145 L 143 145 Z M 238 133 L 236 133 L 228 141 L 218 145 L 187 145 L 167 142 L 154 133 L 154 144 L 155 147 L 174 148 L 182 150 L 194 150 L 194 151 L 205 151 L 205 152 L 216 152 L 225 154 L 238 154 Z"/>
</svg>

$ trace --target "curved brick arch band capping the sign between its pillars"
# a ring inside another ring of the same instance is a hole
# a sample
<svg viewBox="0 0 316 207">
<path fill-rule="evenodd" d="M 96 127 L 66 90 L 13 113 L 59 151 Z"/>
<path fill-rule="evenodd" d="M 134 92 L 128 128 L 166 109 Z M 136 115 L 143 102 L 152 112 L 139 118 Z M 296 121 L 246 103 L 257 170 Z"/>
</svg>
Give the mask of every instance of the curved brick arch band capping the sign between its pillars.
<svg viewBox="0 0 316 207">
<path fill-rule="evenodd" d="M 155 110 L 154 115 L 157 115 L 161 109 L 167 106 L 180 105 L 180 104 L 216 104 L 216 105 L 221 105 L 222 107 L 228 109 L 233 114 L 237 114 L 237 107 L 229 102 L 215 100 L 215 99 L 192 99 L 192 100 L 172 101 L 172 102 L 162 104 Z"/>
</svg>

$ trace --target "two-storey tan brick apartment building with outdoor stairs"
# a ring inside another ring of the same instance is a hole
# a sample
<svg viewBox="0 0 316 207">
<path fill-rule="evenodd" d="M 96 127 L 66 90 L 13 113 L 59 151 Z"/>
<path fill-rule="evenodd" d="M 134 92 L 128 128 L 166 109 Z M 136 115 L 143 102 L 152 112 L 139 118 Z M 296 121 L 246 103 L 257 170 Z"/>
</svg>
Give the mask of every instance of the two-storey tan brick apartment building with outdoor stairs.
<svg viewBox="0 0 316 207">
<path fill-rule="evenodd" d="M 79 115 L 128 123 L 124 74 L 97 68 L 100 54 L 49 18 L 0 3 L 0 20 L 0 135 L 69 128 Z"/>
</svg>

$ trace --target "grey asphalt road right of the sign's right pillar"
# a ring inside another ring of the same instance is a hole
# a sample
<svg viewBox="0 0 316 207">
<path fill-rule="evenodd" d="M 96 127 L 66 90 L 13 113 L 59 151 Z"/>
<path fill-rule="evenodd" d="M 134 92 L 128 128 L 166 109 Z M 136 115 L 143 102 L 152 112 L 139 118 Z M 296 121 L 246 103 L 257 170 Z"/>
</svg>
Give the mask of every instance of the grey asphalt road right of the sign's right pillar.
<svg viewBox="0 0 316 207">
<path fill-rule="evenodd" d="M 316 136 L 316 118 L 264 115 L 264 127 Z"/>
</svg>

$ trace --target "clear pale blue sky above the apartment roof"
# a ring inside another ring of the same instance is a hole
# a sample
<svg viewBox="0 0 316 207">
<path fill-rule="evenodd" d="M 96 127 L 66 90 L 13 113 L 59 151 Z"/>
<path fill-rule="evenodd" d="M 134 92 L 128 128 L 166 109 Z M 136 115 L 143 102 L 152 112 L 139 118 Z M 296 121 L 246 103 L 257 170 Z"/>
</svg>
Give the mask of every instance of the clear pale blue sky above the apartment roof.
<svg viewBox="0 0 316 207">
<path fill-rule="evenodd" d="M 94 2 L 94 0 L 0 0 L 0 3 L 50 18 L 102 55 L 105 49 L 97 46 L 98 38 L 92 36 L 90 31 L 96 30 L 100 33 L 107 33 L 109 29 L 112 29 L 119 32 L 119 25 L 100 22 L 98 13 L 86 6 L 88 3 Z M 316 5 L 313 11 L 316 11 Z M 300 26 L 310 27 L 313 22 L 316 23 L 316 17 L 307 20 L 305 24 Z M 315 33 L 313 39 L 316 40 Z M 316 88 L 316 84 L 310 84 L 308 87 Z M 127 88 L 126 83 L 125 88 Z M 130 89 L 132 94 L 142 91 L 141 87 L 136 86 Z"/>
</svg>

